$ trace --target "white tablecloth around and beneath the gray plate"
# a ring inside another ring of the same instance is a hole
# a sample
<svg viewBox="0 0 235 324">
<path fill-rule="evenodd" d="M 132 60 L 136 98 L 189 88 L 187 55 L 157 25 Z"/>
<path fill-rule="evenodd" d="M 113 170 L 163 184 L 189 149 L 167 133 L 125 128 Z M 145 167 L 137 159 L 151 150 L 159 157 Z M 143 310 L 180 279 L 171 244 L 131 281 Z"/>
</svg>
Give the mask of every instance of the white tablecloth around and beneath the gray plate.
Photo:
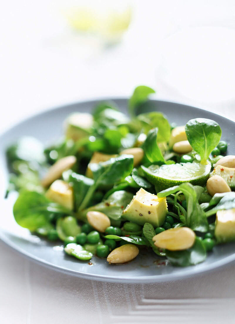
<svg viewBox="0 0 235 324">
<path fill-rule="evenodd" d="M 1 129 L 63 103 L 128 96 L 139 84 L 235 119 L 234 2 L 130 3 L 123 41 L 105 47 L 71 32 L 65 1 L 2 1 Z M 174 282 L 112 284 L 52 271 L 2 243 L 0 260 L 1 323 L 234 323 L 235 264 Z"/>
</svg>

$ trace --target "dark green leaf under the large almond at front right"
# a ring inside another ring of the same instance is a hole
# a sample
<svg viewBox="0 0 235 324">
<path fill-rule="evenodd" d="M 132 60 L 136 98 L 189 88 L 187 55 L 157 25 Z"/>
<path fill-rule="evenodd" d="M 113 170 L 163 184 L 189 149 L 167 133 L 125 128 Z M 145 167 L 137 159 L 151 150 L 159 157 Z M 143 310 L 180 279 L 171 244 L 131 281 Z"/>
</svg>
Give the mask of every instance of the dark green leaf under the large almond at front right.
<svg viewBox="0 0 235 324">
<path fill-rule="evenodd" d="M 206 259 L 206 250 L 201 241 L 196 238 L 194 245 L 184 251 L 166 250 L 167 259 L 176 266 L 186 267 L 203 262 Z"/>
</svg>

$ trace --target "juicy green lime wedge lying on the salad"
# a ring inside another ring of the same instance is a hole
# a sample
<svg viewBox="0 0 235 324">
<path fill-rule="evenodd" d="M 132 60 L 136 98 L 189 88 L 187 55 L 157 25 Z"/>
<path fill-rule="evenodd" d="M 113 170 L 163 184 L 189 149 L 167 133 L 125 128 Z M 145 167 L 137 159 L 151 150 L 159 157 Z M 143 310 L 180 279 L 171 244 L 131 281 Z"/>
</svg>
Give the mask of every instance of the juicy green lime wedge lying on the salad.
<svg viewBox="0 0 235 324">
<path fill-rule="evenodd" d="M 176 163 L 170 165 L 151 165 L 149 168 L 141 167 L 146 179 L 154 184 L 159 191 L 177 186 L 183 182 L 204 187 L 209 177 L 211 164 Z"/>
</svg>

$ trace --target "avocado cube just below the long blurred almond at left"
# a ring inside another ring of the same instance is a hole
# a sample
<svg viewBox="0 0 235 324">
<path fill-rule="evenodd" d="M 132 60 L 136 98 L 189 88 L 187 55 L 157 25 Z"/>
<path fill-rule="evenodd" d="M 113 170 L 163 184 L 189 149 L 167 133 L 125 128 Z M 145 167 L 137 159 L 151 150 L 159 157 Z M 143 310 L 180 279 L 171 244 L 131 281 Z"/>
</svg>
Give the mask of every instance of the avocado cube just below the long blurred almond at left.
<svg viewBox="0 0 235 324">
<path fill-rule="evenodd" d="M 63 180 L 54 181 L 46 192 L 46 197 L 69 210 L 73 210 L 73 190 Z"/>
</svg>

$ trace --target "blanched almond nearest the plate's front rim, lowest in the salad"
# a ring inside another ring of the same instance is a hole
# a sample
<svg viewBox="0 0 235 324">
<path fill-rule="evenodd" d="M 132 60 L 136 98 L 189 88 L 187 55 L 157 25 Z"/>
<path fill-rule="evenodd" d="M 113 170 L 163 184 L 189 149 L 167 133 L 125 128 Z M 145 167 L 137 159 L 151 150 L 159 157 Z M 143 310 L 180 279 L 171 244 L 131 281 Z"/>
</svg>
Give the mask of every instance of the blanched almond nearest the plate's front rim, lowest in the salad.
<svg viewBox="0 0 235 324">
<path fill-rule="evenodd" d="M 133 244 L 125 244 L 112 250 L 108 255 L 109 263 L 125 263 L 133 260 L 139 254 L 139 249 Z"/>
</svg>

